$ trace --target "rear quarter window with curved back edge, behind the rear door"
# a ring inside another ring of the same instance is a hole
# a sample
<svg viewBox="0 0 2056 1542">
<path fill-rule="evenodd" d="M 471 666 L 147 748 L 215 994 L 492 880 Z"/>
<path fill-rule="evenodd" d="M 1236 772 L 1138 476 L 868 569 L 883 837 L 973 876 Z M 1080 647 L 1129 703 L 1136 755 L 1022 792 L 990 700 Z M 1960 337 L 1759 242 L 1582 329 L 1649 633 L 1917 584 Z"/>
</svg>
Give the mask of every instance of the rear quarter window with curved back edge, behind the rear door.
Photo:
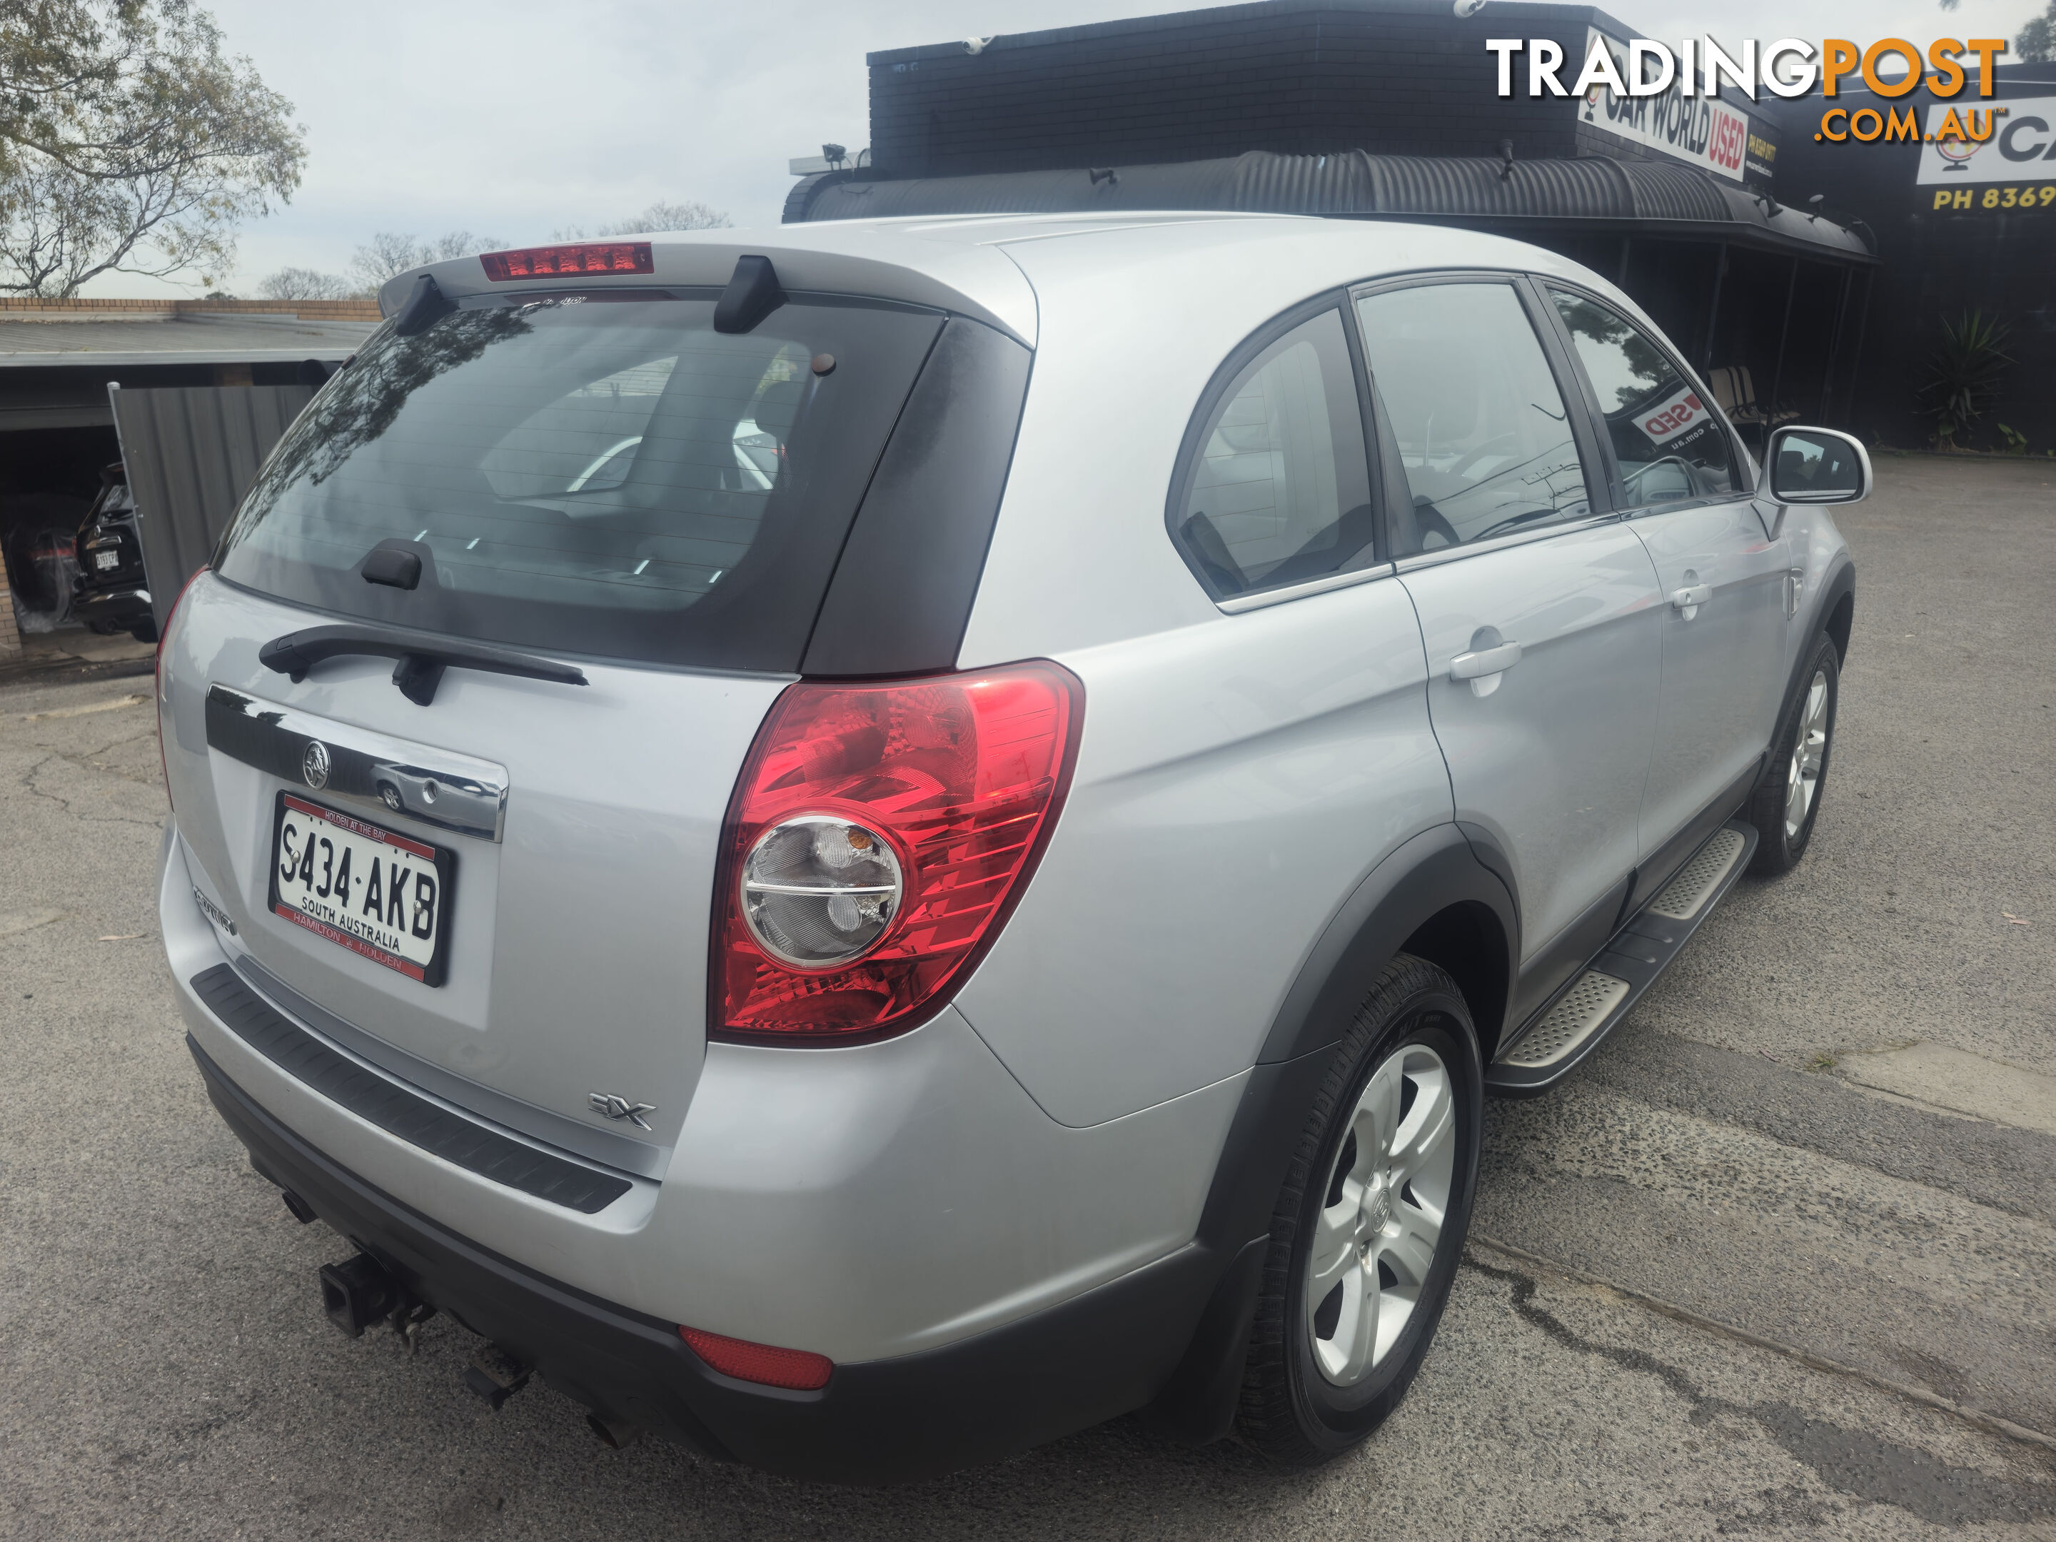
<svg viewBox="0 0 2056 1542">
<path fill-rule="evenodd" d="M 1258 354 L 1207 421 L 1172 533 L 1217 598 L 1375 559 L 1363 411 L 1343 313 Z"/>
</svg>

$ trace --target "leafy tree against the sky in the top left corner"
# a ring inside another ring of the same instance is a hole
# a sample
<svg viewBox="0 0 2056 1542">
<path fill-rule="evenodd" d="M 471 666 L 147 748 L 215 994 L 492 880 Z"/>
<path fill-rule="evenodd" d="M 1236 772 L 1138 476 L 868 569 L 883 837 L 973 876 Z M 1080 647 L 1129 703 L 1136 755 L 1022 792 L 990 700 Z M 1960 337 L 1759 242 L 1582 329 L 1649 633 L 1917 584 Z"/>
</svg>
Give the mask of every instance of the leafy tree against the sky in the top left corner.
<svg viewBox="0 0 2056 1542">
<path fill-rule="evenodd" d="M 189 0 L 0 0 L 0 292 L 212 284 L 300 185 L 290 117 Z"/>
</svg>

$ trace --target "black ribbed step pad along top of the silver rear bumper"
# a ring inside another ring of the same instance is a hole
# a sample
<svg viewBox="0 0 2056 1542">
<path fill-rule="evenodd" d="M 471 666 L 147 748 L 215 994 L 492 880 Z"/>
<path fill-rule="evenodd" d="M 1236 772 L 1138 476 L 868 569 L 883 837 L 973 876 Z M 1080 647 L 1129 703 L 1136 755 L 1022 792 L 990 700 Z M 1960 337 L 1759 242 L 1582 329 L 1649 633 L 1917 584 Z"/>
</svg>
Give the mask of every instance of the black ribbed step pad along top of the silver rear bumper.
<svg viewBox="0 0 2056 1542">
<path fill-rule="evenodd" d="M 442 1104 L 366 1071 L 278 1012 L 228 964 L 193 975 L 193 995 L 236 1038 L 323 1098 L 481 1178 L 547 1199 L 551 1205 L 563 1205 L 580 1215 L 596 1215 L 635 1186 L 611 1172 L 582 1168 L 549 1151 L 537 1151 L 533 1145 L 522 1145 L 463 1114 L 452 1114 Z"/>
</svg>

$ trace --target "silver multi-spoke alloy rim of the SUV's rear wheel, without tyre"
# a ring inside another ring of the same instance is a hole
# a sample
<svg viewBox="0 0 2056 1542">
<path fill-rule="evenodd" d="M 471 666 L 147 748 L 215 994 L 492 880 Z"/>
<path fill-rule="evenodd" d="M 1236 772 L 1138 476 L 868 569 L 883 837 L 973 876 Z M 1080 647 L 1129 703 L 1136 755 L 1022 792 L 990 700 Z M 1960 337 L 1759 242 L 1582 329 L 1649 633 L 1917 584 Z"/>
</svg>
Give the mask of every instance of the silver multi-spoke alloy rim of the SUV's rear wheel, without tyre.
<svg viewBox="0 0 2056 1542">
<path fill-rule="evenodd" d="M 1314 1223 L 1306 1322 L 1334 1386 L 1367 1378 L 1421 1304 L 1454 1168 L 1449 1069 L 1427 1044 L 1406 1044 L 1363 1084 Z"/>
</svg>

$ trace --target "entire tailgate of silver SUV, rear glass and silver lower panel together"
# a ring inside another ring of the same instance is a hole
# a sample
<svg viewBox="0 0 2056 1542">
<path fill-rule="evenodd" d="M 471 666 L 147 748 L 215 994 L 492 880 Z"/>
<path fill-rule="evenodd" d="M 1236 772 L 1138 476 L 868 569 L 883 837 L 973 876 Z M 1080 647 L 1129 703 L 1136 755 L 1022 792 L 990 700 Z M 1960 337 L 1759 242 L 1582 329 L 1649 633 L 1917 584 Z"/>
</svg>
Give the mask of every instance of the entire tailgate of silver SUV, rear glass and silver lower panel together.
<svg viewBox="0 0 2056 1542">
<path fill-rule="evenodd" d="M 652 1176 L 703 1053 L 736 775 L 946 321 L 713 313 L 699 290 L 475 294 L 380 331 L 288 430 L 164 650 L 179 833 L 251 983 Z M 450 666 L 403 693 L 391 656 L 261 662 L 337 623 L 586 683 Z"/>
</svg>

